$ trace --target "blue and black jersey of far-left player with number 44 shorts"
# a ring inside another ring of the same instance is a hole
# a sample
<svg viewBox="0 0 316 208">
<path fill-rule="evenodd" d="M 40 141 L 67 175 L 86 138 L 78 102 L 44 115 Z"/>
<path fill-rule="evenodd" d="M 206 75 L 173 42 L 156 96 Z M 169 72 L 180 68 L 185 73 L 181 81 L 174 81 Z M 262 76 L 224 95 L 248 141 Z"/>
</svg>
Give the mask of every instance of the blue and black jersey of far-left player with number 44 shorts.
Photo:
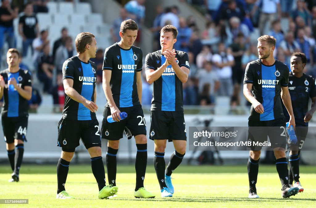
<svg viewBox="0 0 316 208">
<path fill-rule="evenodd" d="M 28 70 L 22 70 L 15 73 L 9 72 L 9 69 L 0 72 L 4 79 L 4 90 L 3 90 L 3 109 L 2 115 L 7 117 L 19 117 L 28 115 L 28 104 L 27 100 L 23 98 L 16 89 L 13 91 L 8 90 L 9 77 L 14 77 L 16 83 L 24 89 L 25 86 L 32 87 L 31 74 Z"/>
</svg>

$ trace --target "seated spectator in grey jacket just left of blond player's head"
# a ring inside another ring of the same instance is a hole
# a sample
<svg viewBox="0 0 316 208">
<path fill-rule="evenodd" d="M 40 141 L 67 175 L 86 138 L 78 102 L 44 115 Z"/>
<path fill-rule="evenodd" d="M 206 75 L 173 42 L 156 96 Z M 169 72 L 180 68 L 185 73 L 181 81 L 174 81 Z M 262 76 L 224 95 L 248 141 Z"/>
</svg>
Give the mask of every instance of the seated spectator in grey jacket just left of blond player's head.
<svg viewBox="0 0 316 208">
<path fill-rule="evenodd" d="M 55 54 L 55 61 L 53 63 L 56 66 L 57 73 L 62 73 L 65 60 L 75 56 L 76 54 L 77 52 L 75 47 L 73 46 L 72 38 L 70 36 L 66 37 L 65 45 L 59 46 Z"/>
</svg>

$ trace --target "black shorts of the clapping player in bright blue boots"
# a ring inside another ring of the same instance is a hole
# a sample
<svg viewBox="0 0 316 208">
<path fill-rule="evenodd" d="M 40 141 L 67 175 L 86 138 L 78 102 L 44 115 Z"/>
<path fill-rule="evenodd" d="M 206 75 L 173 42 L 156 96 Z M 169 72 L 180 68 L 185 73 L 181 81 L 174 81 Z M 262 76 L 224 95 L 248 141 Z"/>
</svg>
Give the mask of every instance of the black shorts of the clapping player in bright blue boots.
<svg viewBox="0 0 316 208">
<path fill-rule="evenodd" d="M 186 129 L 183 111 L 151 111 L 150 113 L 150 133 L 151 140 L 168 139 L 185 140 Z"/>
</svg>

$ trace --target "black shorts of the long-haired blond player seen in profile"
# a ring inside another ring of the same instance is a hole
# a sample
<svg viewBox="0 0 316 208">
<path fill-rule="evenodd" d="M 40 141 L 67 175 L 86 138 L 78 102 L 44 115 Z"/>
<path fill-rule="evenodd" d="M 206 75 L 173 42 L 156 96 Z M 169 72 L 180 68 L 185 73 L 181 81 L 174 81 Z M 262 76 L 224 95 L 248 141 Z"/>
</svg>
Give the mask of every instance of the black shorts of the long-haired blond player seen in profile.
<svg viewBox="0 0 316 208">
<path fill-rule="evenodd" d="M 79 146 L 80 138 L 86 149 L 101 147 L 99 122 L 97 119 L 60 119 L 58 123 L 57 146 L 63 149 L 75 149 Z"/>
</svg>

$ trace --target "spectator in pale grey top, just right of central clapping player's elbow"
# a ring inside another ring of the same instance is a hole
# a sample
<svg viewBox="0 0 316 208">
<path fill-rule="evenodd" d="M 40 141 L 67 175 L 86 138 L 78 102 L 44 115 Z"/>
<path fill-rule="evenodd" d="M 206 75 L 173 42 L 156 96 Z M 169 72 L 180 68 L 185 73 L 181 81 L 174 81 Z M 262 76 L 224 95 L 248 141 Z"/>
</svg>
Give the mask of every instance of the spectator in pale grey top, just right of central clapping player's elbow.
<svg viewBox="0 0 316 208">
<path fill-rule="evenodd" d="M 210 89 L 208 90 L 209 92 L 208 97 L 210 99 L 210 104 L 214 104 L 216 92 L 220 87 L 220 81 L 219 81 L 216 71 L 212 70 L 212 63 L 210 61 L 206 61 L 204 63 L 204 68 L 197 72 L 196 77 L 198 79 L 199 95 L 201 96 L 201 94 L 203 94 L 203 91 L 205 93 L 205 90 L 206 90 L 204 89 L 205 84 L 208 84 L 210 87 Z M 200 102 L 201 102 L 201 99 L 199 101 L 199 104 Z"/>
</svg>

